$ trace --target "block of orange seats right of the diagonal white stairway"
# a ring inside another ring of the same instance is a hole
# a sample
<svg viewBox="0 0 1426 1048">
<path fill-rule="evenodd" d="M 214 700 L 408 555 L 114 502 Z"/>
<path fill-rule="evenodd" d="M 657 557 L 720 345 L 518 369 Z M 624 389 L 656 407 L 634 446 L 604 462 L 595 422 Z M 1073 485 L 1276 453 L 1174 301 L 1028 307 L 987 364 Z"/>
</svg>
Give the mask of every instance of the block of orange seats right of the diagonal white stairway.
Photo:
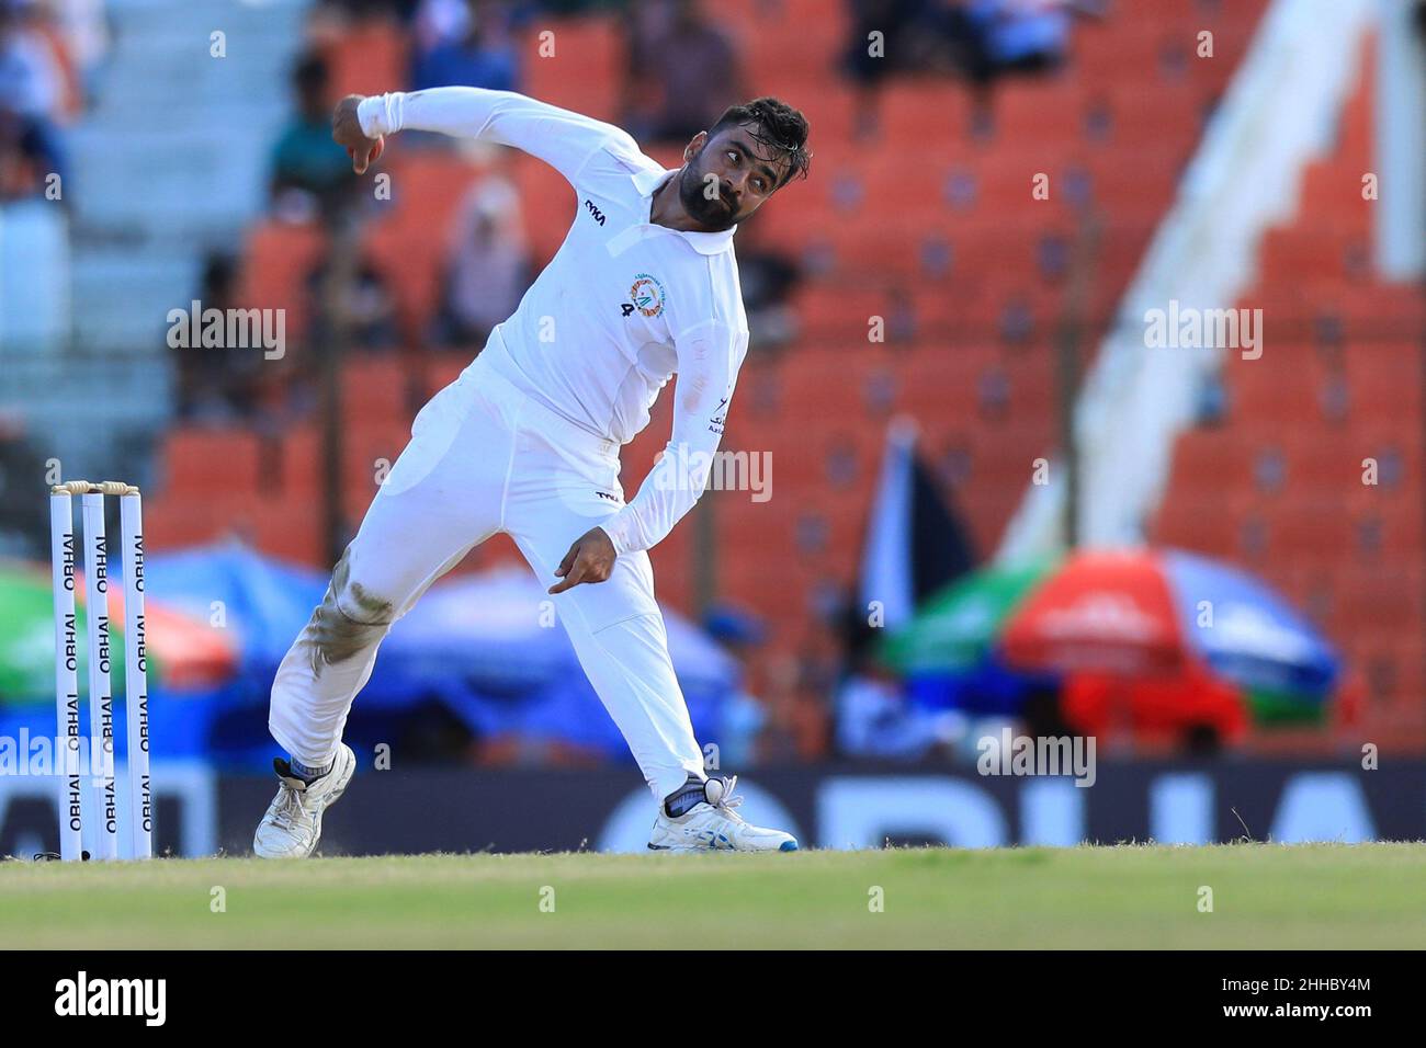
<svg viewBox="0 0 1426 1048">
<path fill-rule="evenodd" d="M 1224 372 L 1231 416 L 1215 439 L 1243 448 L 1249 462 L 1279 455 L 1282 482 L 1245 503 L 1256 478 L 1242 476 L 1243 452 L 1225 448 L 1216 456 L 1225 471 L 1216 500 L 1206 493 L 1209 476 L 1205 493 L 1194 496 L 1195 485 L 1179 478 L 1185 466 L 1185 479 L 1198 471 L 1188 449 L 1204 436 L 1189 435 L 1179 442 L 1154 535 L 1222 549 L 1295 599 L 1325 600 L 1329 636 L 1372 692 L 1369 727 L 1358 733 L 1406 737 L 1426 726 L 1419 702 L 1426 529 L 1419 490 L 1406 481 L 1419 476 L 1422 458 L 1415 364 L 1407 365 L 1415 379 L 1402 381 L 1423 308 L 1419 294 L 1378 281 L 1369 268 L 1372 212 L 1360 185 L 1369 74 L 1359 83 L 1336 151 L 1305 173 L 1298 218 L 1263 238 L 1258 285 L 1242 305 L 1263 309 L 1265 354 L 1229 355 Z M 1376 486 L 1362 483 L 1369 456 L 1382 463 Z M 1212 459 L 1201 463 L 1204 472 Z M 1253 528 L 1261 548 L 1245 542 Z"/>
</svg>

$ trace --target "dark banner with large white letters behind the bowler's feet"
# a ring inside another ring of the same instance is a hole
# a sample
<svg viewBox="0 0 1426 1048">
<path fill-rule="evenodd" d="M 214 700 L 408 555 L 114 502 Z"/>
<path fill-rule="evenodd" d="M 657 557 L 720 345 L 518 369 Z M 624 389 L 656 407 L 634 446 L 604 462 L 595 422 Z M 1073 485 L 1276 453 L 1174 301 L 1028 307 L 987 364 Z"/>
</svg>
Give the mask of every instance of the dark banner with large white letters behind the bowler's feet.
<svg viewBox="0 0 1426 1048">
<path fill-rule="evenodd" d="M 1012 769 L 1001 769 L 1012 771 Z M 154 766 L 155 851 L 245 854 L 272 798 L 267 776 Z M 743 814 L 804 846 L 1209 844 L 1426 838 L 1426 763 L 1185 764 L 1102 761 L 1089 774 L 977 774 L 943 766 L 757 769 Z M 57 793 L 0 777 L 0 856 L 57 847 Z M 637 851 L 655 801 L 637 771 L 411 767 L 366 760 L 325 820 L 325 854 Z"/>
</svg>

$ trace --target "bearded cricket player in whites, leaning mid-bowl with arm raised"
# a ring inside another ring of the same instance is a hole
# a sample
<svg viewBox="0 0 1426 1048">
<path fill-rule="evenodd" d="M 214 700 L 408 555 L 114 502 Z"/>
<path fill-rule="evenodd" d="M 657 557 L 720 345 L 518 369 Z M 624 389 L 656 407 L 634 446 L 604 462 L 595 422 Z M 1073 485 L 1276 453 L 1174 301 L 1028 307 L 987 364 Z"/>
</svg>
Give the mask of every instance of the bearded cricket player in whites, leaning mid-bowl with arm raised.
<svg viewBox="0 0 1426 1048">
<path fill-rule="evenodd" d="M 511 91 L 439 87 L 344 98 L 332 137 L 359 174 L 385 137 L 513 145 L 575 190 L 559 252 L 485 349 L 422 408 L 411 442 L 272 684 L 287 750 L 258 856 L 309 856 L 355 769 L 342 727 L 392 623 L 468 550 L 505 532 L 552 583 L 579 663 L 629 743 L 657 814 L 650 848 L 793 851 L 709 777 L 669 660 L 649 549 L 707 482 L 747 352 L 737 224 L 806 177 L 807 121 L 776 98 L 729 108 L 665 170 L 617 127 Z M 619 446 L 677 372 L 673 435 L 625 500 Z"/>
</svg>

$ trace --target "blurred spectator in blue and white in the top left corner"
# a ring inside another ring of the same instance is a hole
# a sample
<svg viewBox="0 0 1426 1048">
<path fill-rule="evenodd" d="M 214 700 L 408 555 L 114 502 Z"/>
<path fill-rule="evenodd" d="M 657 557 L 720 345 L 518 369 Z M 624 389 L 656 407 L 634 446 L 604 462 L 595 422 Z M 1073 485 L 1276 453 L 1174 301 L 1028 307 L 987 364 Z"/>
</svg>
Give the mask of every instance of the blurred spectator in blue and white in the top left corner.
<svg viewBox="0 0 1426 1048">
<path fill-rule="evenodd" d="M 39 19 L 33 0 L 0 0 L 0 198 L 66 181 L 64 74 Z"/>
</svg>

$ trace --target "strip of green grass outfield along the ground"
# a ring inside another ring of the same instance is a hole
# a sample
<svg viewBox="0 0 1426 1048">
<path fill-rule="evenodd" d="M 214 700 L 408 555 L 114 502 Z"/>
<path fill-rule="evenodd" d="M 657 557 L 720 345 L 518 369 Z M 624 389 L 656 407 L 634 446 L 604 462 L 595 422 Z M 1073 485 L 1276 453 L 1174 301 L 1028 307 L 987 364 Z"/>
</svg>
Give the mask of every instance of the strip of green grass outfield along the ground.
<svg viewBox="0 0 1426 1048">
<path fill-rule="evenodd" d="M 0 864 L 3 948 L 690 944 L 1422 948 L 1426 844 Z"/>
</svg>

